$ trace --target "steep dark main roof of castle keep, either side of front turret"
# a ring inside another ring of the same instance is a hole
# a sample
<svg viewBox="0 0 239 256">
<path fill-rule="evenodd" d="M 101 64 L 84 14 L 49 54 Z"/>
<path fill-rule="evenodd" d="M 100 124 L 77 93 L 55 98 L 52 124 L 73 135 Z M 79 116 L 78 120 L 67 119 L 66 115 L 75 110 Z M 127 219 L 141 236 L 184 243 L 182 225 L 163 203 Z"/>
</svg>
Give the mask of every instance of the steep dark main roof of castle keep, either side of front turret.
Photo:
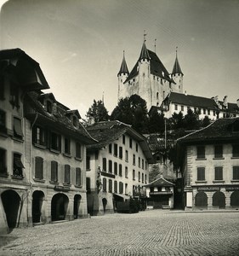
<svg viewBox="0 0 239 256">
<path fill-rule="evenodd" d="M 166 67 L 163 66 L 162 61 L 160 61 L 160 59 L 158 58 L 156 53 L 154 53 L 150 49 L 146 49 L 146 50 L 147 50 L 147 53 L 150 57 L 151 74 L 154 74 L 154 75 L 160 77 L 161 79 L 166 79 L 169 82 L 173 82 L 173 80 L 169 76 L 168 70 L 166 69 Z M 140 59 L 141 59 L 141 57 L 139 57 L 139 60 Z M 138 68 L 137 68 L 138 65 L 139 65 L 139 60 L 134 65 L 134 68 L 129 73 L 128 78 L 125 80 L 124 84 L 127 83 L 130 79 L 133 79 L 135 76 L 137 76 L 139 74 L 139 71 L 138 71 Z"/>
</svg>

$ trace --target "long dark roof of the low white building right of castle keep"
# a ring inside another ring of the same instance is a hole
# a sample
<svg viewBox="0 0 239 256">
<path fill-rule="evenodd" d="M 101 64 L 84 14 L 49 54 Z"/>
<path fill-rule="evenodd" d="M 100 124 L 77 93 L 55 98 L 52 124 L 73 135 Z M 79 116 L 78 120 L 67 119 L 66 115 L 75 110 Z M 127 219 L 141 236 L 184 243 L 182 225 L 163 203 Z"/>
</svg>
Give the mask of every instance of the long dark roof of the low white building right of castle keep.
<svg viewBox="0 0 239 256">
<path fill-rule="evenodd" d="M 202 96 L 185 95 L 183 93 L 178 92 L 171 92 L 164 99 L 162 104 L 169 104 L 170 102 L 196 108 L 211 108 L 215 110 L 218 109 L 218 106 L 213 99 L 209 99 Z"/>
</svg>

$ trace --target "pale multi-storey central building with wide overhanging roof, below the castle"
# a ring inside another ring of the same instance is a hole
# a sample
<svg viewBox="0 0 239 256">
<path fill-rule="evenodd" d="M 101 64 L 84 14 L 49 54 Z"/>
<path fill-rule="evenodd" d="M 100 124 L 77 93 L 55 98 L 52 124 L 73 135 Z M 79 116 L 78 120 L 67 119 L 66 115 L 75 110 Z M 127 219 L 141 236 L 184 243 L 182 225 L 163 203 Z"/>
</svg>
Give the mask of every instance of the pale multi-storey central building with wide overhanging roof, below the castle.
<svg viewBox="0 0 239 256">
<path fill-rule="evenodd" d="M 153 162 L 145 137 L 119 121 L 90 125 L 87 131 L 98 140 L 87 147 L 88 212 L 114 212 L 117 201 L 145 197 Z"/>
</svg>

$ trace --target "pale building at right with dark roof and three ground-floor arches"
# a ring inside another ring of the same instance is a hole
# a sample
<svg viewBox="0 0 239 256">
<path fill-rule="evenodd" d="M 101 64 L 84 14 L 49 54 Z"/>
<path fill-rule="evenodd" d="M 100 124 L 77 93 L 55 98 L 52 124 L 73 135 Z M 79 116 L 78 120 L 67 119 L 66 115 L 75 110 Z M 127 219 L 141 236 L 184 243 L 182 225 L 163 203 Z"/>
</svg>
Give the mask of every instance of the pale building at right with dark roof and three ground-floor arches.
<svg viewBox="0 0 239 256">
<path fill-rule="evenodd" d="M 217 119 L 178 140 L 185 210 L 239 208 L 239 119 Z"/>
</svg>

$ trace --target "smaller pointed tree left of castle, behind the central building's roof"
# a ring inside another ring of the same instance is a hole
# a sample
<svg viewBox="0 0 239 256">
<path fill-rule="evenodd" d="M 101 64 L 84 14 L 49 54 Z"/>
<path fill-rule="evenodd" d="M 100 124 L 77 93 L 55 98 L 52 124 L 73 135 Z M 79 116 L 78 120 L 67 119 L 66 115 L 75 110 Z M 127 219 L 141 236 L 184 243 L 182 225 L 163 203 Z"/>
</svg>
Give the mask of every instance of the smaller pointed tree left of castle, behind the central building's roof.
<svg viewBox="0 0 239 256">
<path fill-rule="evenodd" d="M 95 122 L 106 121 L 109 119 L 108 111 L 105 108 L 104 102 L 94 100 L 91 108 L 88 108 L 87 118 L 94 117 Z"/>
</svg>

